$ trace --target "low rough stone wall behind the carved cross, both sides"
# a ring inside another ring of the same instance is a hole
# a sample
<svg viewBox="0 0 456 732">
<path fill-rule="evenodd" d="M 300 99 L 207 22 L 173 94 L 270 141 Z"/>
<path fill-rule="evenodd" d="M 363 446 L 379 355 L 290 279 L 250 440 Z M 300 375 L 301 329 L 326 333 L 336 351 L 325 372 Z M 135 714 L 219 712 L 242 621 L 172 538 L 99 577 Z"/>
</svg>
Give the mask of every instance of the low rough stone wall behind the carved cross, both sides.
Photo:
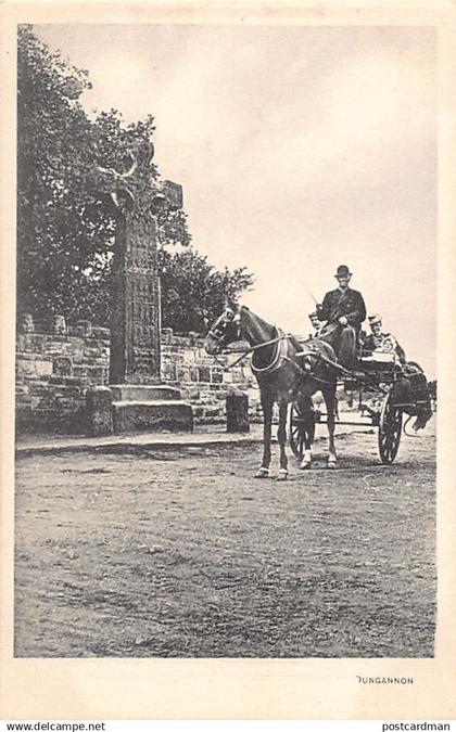
<svg viewBox="0 0 456 732">
<path fill-rule="evenodd" d="M 109 330 L 93 328 L 89 321 L 66 328 L 63 319 L 54 319 L 50 328 L 34 326 L 28 319 L 18 330 L 17 432 L 84 433 L 86 390 L 109 382 Z M 162 378 L 180 388 L 193 407 L 197 424 L 224 422 L 225 398 L 232 390 L 249 395 L 252 419 L 259 414 L 259 394 L 248 362 L 224 371 L 205 354 L 199 334 L 178 335 L 164 329 Z"/>
</svg>

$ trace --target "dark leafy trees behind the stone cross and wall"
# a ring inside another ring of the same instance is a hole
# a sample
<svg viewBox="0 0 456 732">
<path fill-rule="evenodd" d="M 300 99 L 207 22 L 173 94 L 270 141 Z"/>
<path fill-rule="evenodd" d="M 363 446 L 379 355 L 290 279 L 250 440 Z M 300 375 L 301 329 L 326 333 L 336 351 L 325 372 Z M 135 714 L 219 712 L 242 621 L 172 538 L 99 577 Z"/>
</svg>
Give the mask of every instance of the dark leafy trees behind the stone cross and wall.
<svg viewBox="0 0 456 732">
<path fill-rule="evenodd" d="M 69 320 L 90 318 L 106 323 L 115 221 L 100 197 L 93 170 L 96 164 L 127 170 L 131 156 L 150 150 L 155 128 L 152 116 L 125 125 L 115 110 L 90 119 L 79 103 L 79 97 L 90 86 L 86 69 L 74 67 L 60 52 L 51 52 L 31 26 L 20 26 L 18 310 L 40 318 L 62 313 Z M 148 176 L 136 174 L 129 179 L 134 193 L 147 197 L 148 187 L 159 175 L 153 163 L 149 171 Z M 160 265 L 164 323 L 173 323 L 178 330 L 187 328 L 185 323 L 194 326 L 203 311 L 214 312 L 210 301 L 219 304 L 220 294 L 215 287 L 240 292 L 243 283 L 250 284 L 251 278 L 243 269 L 217 273 L 194 251 L 185 256 L 191 236 L 183 211 L 165 206 L 157 223 L 163 247 Z M 172 255 L 165 248 L 175 245 L 183 252 Z M 206 285 L 205 290 L 191 288 L 186 282 L 186 277 L 198 280 L 199 268 L 211 273 L 212 299 Z M 179 294 L 180 301 L 186 303 L 180 310 L 176 304 L 179 287 L 189 293 L 186 298 Z"/>
</svg>

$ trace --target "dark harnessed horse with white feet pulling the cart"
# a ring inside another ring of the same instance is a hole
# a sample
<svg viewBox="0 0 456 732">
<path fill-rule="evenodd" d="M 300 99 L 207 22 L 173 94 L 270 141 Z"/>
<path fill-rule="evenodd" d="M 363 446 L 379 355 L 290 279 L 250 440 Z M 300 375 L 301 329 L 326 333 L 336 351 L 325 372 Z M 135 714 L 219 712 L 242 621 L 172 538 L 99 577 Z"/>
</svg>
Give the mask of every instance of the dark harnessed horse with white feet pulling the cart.
<svg viewBox="0 0 456 732">
<path fill-rule="evenodd" d="M 277 439 L 280 447 L 278 480 L 288 478 L 287 414 L 291 402 L 296 402 L 303 420 L 304 455 L 300 467 L 312 465 L 312 446 L 315 436 L 315 413 L 312 396 L 320 390 L 327 408 L 329 434 L 328 467 L 335 467 L 334 412 L 337 361 L 334 349 L 320 338 L 297 343 L 291 334 L 271 325 L 245 306 L 227 300 L 221 314 L 205 337 L 208 355 L 217 356 L 231 344 L 246 342 L 245 355 L 252 352 L 251 368 L 256 377 L 263 408 L 263 460 L 256 478 L 269 477 L 273 409 L 279 407 Z M 332 364 L 332 365 L 331 365 Z"/>
</svg>

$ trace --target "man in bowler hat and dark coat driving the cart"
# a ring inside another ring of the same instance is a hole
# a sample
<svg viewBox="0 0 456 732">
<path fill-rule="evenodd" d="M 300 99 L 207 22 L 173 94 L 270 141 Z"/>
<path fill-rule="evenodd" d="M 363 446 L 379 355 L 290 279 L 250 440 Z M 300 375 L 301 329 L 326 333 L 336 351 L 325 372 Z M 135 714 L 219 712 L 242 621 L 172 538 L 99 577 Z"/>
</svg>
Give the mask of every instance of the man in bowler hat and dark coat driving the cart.
<svg viewBox="0 0 456 732">
<path fill-rule="evenodd" d="M 366 320 L 363 295 L 352 290 L 352 272 L 346 265 L 340 265 L 334 274 L 339 287 L 331 290 L 317 305 L 318 320 L 326 320 L 320 337 L 334 348 L 339 363 L 347 369 L 355 365 L 356 344 L 360 326 Z"/>
</svg>

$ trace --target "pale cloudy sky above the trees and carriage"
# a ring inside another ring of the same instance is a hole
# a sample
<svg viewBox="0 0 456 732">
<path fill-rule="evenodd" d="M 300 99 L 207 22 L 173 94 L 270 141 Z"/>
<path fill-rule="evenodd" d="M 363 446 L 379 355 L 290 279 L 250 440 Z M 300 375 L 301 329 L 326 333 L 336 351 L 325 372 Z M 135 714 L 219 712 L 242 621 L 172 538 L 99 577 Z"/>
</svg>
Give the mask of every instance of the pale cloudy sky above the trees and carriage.
<svg viewBox="0 0 456 732">
<path fill-rule="evenodd" d="M 340 264 L 435 375 L 436 52 L 426 26 L 37 25 L 87 68 L 87 111 L 155 118 L 193 246 L 242 303 L 308 333 Z"/>
</svg>

